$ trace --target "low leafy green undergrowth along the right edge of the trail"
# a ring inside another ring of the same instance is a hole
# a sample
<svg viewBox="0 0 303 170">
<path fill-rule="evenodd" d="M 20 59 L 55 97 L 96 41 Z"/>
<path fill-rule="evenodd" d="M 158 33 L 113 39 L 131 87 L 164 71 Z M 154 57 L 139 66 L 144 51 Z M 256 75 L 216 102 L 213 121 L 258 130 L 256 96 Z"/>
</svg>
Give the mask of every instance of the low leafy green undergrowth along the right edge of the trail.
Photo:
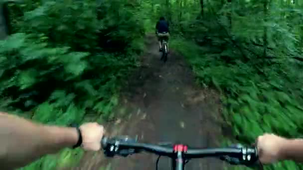
<svg viewBox="0 0 303 170">
<path fill-rule="evenodd" d="M 228 64 L 209 47 L 200 47 L 184 39 L 172 41 L 171 47 L 185 56 L 199 84 L 215 86 L 224 92 L 223 115 L 233 130 L 232 143 L 250 145 L 264 132 L 285 137 L 302 136 L 302 81 L 289 71 L 291 63 L 281 64 L 279 69 L 269 66 L 258 74 L 260 70 L 254 65 L 239 60 Z M 286 161 L 265 169 L 298 168 L 294 162 Z"/>
</svg>

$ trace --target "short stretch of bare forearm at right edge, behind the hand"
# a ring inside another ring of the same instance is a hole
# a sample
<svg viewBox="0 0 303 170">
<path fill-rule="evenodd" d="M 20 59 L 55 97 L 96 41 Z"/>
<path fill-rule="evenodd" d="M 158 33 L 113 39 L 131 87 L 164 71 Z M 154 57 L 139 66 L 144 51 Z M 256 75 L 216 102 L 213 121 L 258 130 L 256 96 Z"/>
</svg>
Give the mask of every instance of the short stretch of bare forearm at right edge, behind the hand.
<svg viewBox="0 0 303 170">
<path fill-rule="evenodd" d="M 303 139 L 288 139 L 280 151 L 281 160 L 303 162 Z"/>
</svg>

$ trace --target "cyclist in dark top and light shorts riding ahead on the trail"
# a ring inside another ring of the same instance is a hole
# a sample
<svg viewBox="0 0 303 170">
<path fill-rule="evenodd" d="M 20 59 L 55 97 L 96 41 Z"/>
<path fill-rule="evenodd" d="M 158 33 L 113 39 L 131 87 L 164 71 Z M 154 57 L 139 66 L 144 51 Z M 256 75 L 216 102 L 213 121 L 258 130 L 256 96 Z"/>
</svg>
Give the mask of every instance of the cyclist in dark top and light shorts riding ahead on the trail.
<svg viewBox="0 0 303 170">
<path fill-rule="evenodd" d="M 168 51 L 169 25 L 163 16 L 160 17 L 160 19 L 155 25 L 155 33 L 159 41 L 159 51 L 160 52 L 162 51 L 162 43 L 161 43 L 162 39 L 167 42 L 167 51 Z"/>
</svg>

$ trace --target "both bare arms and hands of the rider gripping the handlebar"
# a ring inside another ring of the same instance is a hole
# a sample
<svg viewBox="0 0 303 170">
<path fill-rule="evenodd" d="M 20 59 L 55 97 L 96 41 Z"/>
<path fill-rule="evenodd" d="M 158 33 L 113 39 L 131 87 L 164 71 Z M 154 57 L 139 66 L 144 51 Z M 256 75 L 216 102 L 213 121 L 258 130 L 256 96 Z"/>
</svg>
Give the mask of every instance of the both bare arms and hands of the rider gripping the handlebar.
<svg viewBox="0 0 303 170">
<path fill-rule="evenodd" d="M 82 146 L 87 151 L 101 149 L 103 126 L 85 123 L 80 128 L 47 126 L 0 112 L 0 167 L 13 170 L 64 148 Z M 303 139 L 286 139 L 265 134 L 257 139 L 263 164 L 293 160 L 303 162 Z"/>
</svg>

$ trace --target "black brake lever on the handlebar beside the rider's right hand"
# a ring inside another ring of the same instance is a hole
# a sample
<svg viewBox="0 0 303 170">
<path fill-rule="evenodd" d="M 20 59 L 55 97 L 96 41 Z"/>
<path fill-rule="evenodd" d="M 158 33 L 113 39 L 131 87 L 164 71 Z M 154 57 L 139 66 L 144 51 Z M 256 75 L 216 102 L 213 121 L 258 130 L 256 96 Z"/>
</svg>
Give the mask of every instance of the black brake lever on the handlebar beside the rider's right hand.
<svg viewBox="0 0 303 170">
<path fill-rule="evenodd" d="M 231 145 L 229 148 L 243 149 L 243 150 L 245 150 L 245 153 L 248 151 L 248 149 L 241 144 Z M 244 156 L 244 157 L 246 157 L 246 156 Z M 245 165 L 245 166 L 251 167 L 251 168 L 258 167 L 261 165 L 259 162 L 259 159 L 258 159 L 258 152 L 247 157 L 249 159 L 235 158 L 235 157 L 230 157 L 230 156 L 221 156 L 219 158 L 220 158 L 220 160 L 225 161 L 225 162 L 229 163 L 230 165 Z"/>
</svg>

